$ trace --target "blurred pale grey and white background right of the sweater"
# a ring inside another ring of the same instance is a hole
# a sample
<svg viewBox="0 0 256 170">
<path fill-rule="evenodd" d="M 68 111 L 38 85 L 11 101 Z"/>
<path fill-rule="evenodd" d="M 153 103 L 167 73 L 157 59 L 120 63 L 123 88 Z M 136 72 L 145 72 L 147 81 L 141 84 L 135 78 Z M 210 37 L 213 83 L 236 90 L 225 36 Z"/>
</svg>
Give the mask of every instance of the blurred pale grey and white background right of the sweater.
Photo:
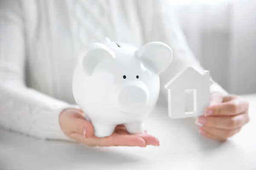
<svg viewBox="0 0 256 170">
<path fill-rule="evenodd" d="M 229 93 L 256 93 L 256 0 L 169 1 L 213 79 Z"/>
</svg>

